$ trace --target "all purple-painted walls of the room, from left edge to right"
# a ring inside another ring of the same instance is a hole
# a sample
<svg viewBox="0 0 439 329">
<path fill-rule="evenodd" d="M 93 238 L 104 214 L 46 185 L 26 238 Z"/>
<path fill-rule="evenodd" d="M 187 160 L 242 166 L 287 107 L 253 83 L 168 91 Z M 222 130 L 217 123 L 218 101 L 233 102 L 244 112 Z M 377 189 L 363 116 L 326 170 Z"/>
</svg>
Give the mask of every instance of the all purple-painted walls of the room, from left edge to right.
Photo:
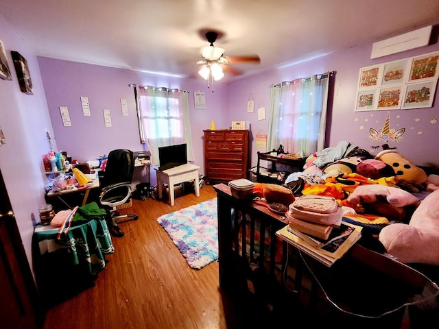
<svg viewBox="0 0 439 329">
<path fill-rule="evenodd" d="M 68 151 L 70 156 L 80 162 L 93 160 L 119 147 L 133 151 L 143 150 L 139 141 L 134 92 L 129 84 L 190 91 L 193 156 L 195 164 L 201 167 L 201 173 L 204 173 L 203 130 L 209 129 L 212 120 L 215 121 L 217 129 L 230 127 L 231 121 L 250 121 L 251 164 L 255 165 L 258 151 L 255 137 L 259 132 L 268 133 L 269 85 L 327 71 L 336 71 L 327 145 L 335 146 L 339 141 L 346 140 L 372 154 L 377 153 L 385 142 L 372 141 L 369 138 L 369 130 L 379 130 L 389 116 L 391 129 L 405 128 L 402 140 L 398 143 L 389 141 L 390 147 L 397 147 L 403 156 L 416 164 L 439 165 L 439 152 L 436 151 L 435 143 L 439 140 L 437 95 L 431 108 L 354 111 L 359 69 L 439 51 L 438 24 L 439 20 L 428 47 L 370 60 L 372 44 L 359 45 L 230 84 L 218 83 L 215 85 L 215 93 L 211 93 L 203 80 L 178 79 L 106 66 L 37 58 L 14 27 L 0 15 L 0 39 L 5 46 L 12 73 L 12 81 L 0 80 L 0 127 L 6 138 L 5 145 L 0 147 L 0 169 L 29 260 L 32 217 L 38 220 L 38 206 L 44 202 L 46 176 L 43 173 L 41 155 L 49 151 L 46 130 L 53 136 L 58 150 Z M 11 50 L 19 51 L 27 59 L 34 84 L 34 95 L 21 93 L 10 56 Z M 205 109 L 194 109 L 193 92 L 198 90 L 204 91 L 206 95 Z M 264 120 L 258 119 L 257 110 L 247 112 L 250 95 L 254 99 L 255 109 L 265 108 Z M 84 117 L 82 114 L 82 96 L 88 97 L 90 117 Z M 120 99 L 127 99 L 128 117 L 121 114 Z M 60 106 L 69 108 L 71 127 L 62 125 Z M 110 110 L 112 127 L 104 125 L 104 109 Z M 377 146 L 379 149 L 373 148 Z M 153 173 L 154 171 L 151 175 L 152 183 L 155 184 Z M 138 171 L 134 184 L 137 181 L 145 181 L 145 175 L 145 169 Z"/>
</svg>

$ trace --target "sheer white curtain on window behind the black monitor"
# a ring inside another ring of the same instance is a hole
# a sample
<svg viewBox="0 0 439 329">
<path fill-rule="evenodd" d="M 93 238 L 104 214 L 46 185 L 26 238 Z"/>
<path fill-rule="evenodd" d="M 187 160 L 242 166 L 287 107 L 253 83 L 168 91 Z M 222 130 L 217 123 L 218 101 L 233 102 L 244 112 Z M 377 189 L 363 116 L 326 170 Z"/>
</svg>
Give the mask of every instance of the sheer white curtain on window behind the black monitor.
<svg viewBox="0 0 439 329">
<path fill-rule="evenodd" d="M 141 143 L 158 165 L 158 147 L 187 144 L 187 160 L 193 162 L 188 92 L 186 90 L 134 86 Z"/>
</svg>

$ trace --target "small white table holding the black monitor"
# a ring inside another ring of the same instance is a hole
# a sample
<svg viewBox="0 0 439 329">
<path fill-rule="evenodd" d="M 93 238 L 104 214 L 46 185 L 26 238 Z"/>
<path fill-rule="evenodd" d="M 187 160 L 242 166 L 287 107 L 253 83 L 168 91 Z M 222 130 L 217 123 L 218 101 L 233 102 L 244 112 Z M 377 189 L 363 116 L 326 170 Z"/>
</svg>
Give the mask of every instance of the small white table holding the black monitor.
<svg viewBox="0 0 439 329">
<path fill-rule="evenodd" d="M 194 180 L 193 186 L 195 187 L 195 195 L 197 197 L 200 196 L 200 186 L 198 185 L 199 166 L 187 163 L 164 171 L 160 171 L 158 168 L 154 169 L 157 173 L 158 199 L 161 199 L 163 183 L 166 183 L 169 186 L 169 201 L 171 202 L 171 206 L 174 206 L 174 185 L 187 182 L 188 180 Z"/>
</svg>

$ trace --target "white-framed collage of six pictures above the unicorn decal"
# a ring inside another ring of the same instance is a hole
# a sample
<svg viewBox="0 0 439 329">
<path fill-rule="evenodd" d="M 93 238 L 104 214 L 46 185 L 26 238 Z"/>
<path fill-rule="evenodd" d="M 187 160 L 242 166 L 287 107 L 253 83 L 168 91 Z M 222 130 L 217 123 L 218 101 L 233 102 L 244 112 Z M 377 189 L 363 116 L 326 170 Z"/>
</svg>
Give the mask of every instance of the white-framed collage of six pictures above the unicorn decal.
<svg viewBox="0 0 439 329">
<path fill-rule="evenodd" d="M 431 108 L 439 76 L 439 51 L 363 67 L 355 111 Z"/>
</svg>

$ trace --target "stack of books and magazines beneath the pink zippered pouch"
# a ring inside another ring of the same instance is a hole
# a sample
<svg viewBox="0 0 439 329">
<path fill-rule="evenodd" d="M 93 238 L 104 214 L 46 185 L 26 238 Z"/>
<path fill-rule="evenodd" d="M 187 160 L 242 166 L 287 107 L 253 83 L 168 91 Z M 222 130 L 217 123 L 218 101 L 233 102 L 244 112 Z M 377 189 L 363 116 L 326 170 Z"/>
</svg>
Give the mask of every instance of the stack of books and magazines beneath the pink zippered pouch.
<svg viewBox="0 0 439 329">
<path fill-rule="evenodd" d="M 276 235 L 330 267 L 361 237 L 361 226 L 341 221 L 327 226 L 294 217 Z"/>
</svg>

